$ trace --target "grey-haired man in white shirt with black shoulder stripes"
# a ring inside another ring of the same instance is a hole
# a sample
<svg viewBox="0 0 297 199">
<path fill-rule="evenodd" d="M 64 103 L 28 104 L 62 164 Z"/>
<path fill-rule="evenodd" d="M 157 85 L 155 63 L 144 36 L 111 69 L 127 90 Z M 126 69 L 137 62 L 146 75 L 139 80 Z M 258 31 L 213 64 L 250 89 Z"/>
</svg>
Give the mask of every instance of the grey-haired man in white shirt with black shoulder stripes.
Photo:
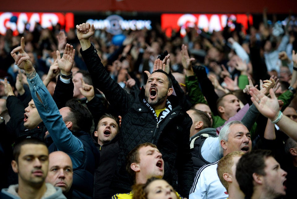
<svg viewBox="0 0 297 199">
<path fill-rule="evenodd" d="M 251 134 L 242 122 L 231 121 L 223 126 L 217 143 L 214 143 L 212 147 L 217 148 L 218 145 L 219 149 L 217 154 L 214 154 L 215 156 L 226 156 L 234 151 L 248 153 L 252 149 Z M 228 197 L 226 188 L 222 185 L 218 175 L 213 175 L 217 172 L 218 161 L 204 165 L 198 170 L 189 199 L 226 199 Z"/>
</svg>

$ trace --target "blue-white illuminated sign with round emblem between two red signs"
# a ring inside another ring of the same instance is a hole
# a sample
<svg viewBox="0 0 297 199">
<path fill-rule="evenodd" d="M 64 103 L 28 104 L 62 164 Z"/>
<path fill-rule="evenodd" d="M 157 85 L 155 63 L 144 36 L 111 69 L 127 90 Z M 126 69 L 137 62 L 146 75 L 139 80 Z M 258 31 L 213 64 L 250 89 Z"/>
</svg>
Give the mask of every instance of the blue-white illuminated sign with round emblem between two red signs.
<svg viewBox="0 0 297 199">
<path fill-rule="evenodd" d="M 119 15 L 110 15 L 104 20 L 88 19 L 88 23 L 94 24 L 95 29 L 106 29 L 111 34 L 121 34 L 123 30 L 152 29 L 151 20 L 124 20 Z"/>
</svg>

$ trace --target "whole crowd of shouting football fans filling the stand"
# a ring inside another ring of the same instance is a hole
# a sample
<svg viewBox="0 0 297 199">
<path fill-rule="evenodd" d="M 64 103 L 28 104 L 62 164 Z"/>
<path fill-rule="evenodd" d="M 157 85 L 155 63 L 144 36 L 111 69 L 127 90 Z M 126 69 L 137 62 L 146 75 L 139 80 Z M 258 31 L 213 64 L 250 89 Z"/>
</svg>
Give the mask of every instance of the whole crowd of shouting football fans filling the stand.
<svg viewBox="0 0 297 199">
<path fill-rule="evenodd" d="M 284 21 L 127 31 L 120 45 L 88 23 L 8 29 L 0 184 L 18 185 L 0 198 L 295 198 L 297 23 Z"/>
</svg>

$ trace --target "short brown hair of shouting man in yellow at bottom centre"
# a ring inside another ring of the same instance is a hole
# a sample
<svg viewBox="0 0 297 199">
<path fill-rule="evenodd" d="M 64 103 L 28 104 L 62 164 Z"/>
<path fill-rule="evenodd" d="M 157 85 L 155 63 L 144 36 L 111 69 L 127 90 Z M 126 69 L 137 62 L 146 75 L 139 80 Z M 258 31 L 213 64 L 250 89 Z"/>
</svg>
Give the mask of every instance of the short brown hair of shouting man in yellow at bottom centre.
<svg viewBox="0 0 297 199">
<path fill-rule="evenodd" d="M 135 180 L 135 171 L 131 169 L 131 164 L 132 163 L 139 163 L 139 149 L 142 147 L 147 147 L 147 146 L 151 146 L 153 148 L 157 148 L 157 146 L 155 144 L 146 142 L 143 144 L 138 144 L 136 147 L 134 147 L 127 155 L 127 163 L 126 163 L 126 170 L 127 172 L 133 176 L 133 179 Z"/>
</svg>

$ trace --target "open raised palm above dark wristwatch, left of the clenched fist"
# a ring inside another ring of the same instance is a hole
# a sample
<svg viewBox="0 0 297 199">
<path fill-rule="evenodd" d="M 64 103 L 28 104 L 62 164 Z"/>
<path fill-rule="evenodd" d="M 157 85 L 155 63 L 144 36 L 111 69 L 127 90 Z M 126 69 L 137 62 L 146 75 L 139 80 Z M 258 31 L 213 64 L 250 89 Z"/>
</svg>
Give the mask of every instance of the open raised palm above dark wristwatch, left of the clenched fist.
<svg viewBox="0 0 297 199">
<path fill-rule="evenodd" d="M 70 46 L 70 44 L 67 43 L 62 58 L 60 58 L 60 51 L 56 51 L 56 53 L 58 66 L 61 70 L 61 73 L 64 75 L 69 75 L 74 64 L 75 49 L 73 49 L 73 46 Z"/>
</svg>

